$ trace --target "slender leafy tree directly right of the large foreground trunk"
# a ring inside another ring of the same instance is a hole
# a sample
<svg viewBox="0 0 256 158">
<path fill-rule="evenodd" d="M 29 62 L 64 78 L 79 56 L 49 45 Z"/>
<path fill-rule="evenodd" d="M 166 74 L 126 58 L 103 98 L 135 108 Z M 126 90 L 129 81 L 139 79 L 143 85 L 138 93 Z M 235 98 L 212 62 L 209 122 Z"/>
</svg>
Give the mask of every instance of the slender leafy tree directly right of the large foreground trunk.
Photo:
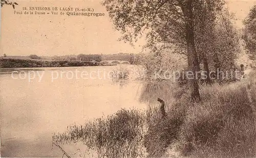
<svg viewBox="0 0 256 158">
<path fill-rule="evenodd" d="M 209 76 L 209 53 L 212 51 L 212 41 L 214 41 L 215 20 L 217 11 L 223 6 L 222 1 L 200 1 L 195 6 L 195 44 L 199 54 L 199 63 L 203 63 L 203 70 Z M 205 79 L 206 84 L 210 84 L 209 77 Z"/>
</svg>

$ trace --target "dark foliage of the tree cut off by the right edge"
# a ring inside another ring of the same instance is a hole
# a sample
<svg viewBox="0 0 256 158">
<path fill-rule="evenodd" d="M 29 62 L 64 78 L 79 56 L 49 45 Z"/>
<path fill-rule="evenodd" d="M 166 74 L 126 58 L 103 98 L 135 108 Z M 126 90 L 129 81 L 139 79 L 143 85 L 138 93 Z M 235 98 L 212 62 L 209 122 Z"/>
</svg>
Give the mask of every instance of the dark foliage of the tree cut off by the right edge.
<svg viewBox="0 0 256 158">
<path fill-rule="evenodd" d="M 254 5 L 246 19 L 243 21 L 245 28 L 243 30 L 243 39 L 246 43 L 246 49 L 251 58 L 256 57 L 256 5 Z"/>
</svg>

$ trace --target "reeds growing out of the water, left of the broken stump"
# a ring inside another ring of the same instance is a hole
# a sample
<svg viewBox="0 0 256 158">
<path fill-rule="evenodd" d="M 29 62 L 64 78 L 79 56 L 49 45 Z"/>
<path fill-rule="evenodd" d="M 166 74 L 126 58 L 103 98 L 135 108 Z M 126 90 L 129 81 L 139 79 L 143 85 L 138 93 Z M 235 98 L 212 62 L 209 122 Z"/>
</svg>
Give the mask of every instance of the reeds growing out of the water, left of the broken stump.
<svg viewBox="0 0 256 158">
<path fill-rule="evenodd" d="M 54 134 L 54 143 L 82 142 L 99 157 L 143 157 L 143 135 L 146 113 L 121 109 L 106 118 L 69 126 L 64 133 Z"/>
</svg>

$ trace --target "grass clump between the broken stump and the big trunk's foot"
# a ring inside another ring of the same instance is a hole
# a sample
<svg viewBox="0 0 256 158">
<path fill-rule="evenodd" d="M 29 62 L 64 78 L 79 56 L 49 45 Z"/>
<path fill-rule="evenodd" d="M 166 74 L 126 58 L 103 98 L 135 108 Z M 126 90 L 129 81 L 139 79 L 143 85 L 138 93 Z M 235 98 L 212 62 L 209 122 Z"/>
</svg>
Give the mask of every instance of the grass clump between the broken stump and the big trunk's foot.
<svg viewBox="0 0 256 158">
<path fill-rule="evenodd" d="M 162 156 L 167 147 L 178 138 L 185 110 L 185 106 L 173 106 L 167 111 L 166 117 L 162 117 L 160 112 L 154 113 L 150 117 L 144 137 L 144 146 L 148 157 Z"/>
</svg>

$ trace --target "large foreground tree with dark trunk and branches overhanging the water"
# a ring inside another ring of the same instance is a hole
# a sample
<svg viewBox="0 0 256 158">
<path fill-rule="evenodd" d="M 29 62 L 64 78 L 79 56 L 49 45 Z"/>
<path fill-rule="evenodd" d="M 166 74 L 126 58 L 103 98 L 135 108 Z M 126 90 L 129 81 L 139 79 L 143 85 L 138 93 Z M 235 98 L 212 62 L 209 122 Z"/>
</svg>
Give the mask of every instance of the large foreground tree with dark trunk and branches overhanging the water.
<svg viewBox="0 0 256 158">
<path fill-rule="evenodd" d="M 224 4 L 223 0 L 103 2 L 115 29 L 122 32 L 120 39 L 133 43 L 145 35 L 147 44 L 144 48 L 149 48 L 157 56 L 161 56 L 166 49 L 186 55 L 188 71 L 194 74 L 200 70 L 201 62 L 209 71 L 208 60 L 212 56 L 218 57 L 217 52 L 230 53 L 229 49 L 217 51 L 221 38 L 217 37 L 219 32 L 216 34 L 216 21 Z M 221 22 L 225 23 L 225 20 L 223 18 Z M 227 27 L 230 29 L 230 25 Z M 232 35 L 225 35 L 233 39 Z M 221 63 L 220 60 L 216 62 Z M 191 97 L 200 100 L 197 79 L 190 79 L 189 85 Z"/>
</svg>

